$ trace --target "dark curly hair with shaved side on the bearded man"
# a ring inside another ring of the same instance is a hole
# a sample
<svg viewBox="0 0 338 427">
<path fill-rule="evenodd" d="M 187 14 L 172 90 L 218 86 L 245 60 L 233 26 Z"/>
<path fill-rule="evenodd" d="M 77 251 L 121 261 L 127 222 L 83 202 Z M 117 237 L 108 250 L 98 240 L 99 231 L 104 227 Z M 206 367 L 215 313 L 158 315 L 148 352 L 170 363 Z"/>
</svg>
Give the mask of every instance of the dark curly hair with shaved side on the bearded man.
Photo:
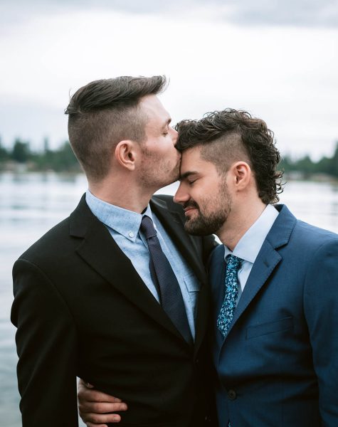
<svg viewBox="0 0 338 427">
<path fill-rule="evenodd" d="M 246 111 L 227 108 L 208 112 L 201 120 L 182 120 L 176 130 L 176 148 L 181 152 L 201 146 L 201 157 L 215 164 L 221 175 L 228 172 L 233 162 L 247 162 L 263 203 L 279 201 L 283 174 L 277 170 L 280 153 L 273 132 L 263 120 Z"/>
</svg>

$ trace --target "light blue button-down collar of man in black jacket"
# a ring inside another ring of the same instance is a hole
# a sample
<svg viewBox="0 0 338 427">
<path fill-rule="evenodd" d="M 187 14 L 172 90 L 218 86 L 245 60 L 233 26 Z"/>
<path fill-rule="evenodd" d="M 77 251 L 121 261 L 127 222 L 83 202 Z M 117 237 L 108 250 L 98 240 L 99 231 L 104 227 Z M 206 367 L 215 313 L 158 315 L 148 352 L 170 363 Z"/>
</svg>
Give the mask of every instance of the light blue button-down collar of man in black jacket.
<svg viewBox="0 0 338 427">
<path fill-rule="evenodd" d="M 143 214 L 137 214 L 137 212 L 129 211 L 128 209 L 123 209 L 120 206 L 97 199 L 89 190 L 85 193 L 85 201 L 90 211 L 93 212 L 99 221 L 133 242 L 137 238 L 142 215 L 147 215 L 153 219 L 149 204 Z"/>
</svg>

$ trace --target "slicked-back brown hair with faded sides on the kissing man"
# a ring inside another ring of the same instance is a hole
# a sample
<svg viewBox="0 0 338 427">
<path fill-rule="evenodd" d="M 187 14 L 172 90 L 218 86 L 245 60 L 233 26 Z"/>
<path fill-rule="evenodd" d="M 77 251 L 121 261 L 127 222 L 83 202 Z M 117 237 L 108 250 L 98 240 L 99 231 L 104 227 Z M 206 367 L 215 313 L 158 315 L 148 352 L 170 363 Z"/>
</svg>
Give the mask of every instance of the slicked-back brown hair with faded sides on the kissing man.
<svg viewBox="0 0 338 427">
<path fill-rule="evenodd" d="M 88 180 L 100 181 L 107 176 L 112 150 L 120 141 L 145 141 L 147 117 L 139 102 L 166 87 L 167 79 L 162 75 L 122 76 L 95 80 L 74 93 L 65 109 L 68 135 Z"/>
</svg>

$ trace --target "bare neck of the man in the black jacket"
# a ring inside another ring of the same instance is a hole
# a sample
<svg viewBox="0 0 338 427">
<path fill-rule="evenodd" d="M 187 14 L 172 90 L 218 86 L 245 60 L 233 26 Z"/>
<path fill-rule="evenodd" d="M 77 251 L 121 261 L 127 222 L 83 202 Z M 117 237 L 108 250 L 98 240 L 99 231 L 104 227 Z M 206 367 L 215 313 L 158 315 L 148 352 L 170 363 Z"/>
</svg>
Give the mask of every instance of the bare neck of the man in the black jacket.
<svg viewBox="0 0 338 427">
<path fill-rule="evenodd" d="M 100 182 L 89 182 L 88 187 L 97 199 L 138 214 L 141 214 L 146 209 L 149 200 L 154 194 L 152 189 L 144 189 L 126 176 L 107 176 Z"/>
</svg>

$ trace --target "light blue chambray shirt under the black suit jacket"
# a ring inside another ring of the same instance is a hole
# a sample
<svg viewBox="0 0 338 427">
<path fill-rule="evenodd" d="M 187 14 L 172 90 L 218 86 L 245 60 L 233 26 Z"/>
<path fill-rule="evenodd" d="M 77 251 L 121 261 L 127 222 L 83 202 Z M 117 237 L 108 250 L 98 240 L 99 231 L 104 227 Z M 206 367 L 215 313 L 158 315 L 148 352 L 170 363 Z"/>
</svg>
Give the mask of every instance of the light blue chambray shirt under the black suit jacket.
<svg viewBox="0 0 338 427">
<path fill-rule="evenodd" d="M 90 211 L 93 212 L 99 221 L 105 224 L 112 238 L 114 238 L 122 252 L 130 259 L 140 278 L 142 278 L 147 288 L 159 302 L 159 295 L 149 270 L 148 244 L 143 234 L 139 233 L 142 214 L 137 214 L 137 212 L 128 211 L 127 209 L 122 209 L 119 206 L 97 199 L 89 190 L 86 191 L 85 201 Z M 171 268 L 174 270 L 176 278 L 179 281 L 191 335 L 195 337 L 196 303 L 201 283 L 199 283 L 191 268 L 186 265 L 186 261 L 175 248 L 167 231 L 164 230 L 159 219 L 152 213 L 149 205 L 144 215 L 152 218 L 162 251 L 167 256 Z"/>
</svg>

